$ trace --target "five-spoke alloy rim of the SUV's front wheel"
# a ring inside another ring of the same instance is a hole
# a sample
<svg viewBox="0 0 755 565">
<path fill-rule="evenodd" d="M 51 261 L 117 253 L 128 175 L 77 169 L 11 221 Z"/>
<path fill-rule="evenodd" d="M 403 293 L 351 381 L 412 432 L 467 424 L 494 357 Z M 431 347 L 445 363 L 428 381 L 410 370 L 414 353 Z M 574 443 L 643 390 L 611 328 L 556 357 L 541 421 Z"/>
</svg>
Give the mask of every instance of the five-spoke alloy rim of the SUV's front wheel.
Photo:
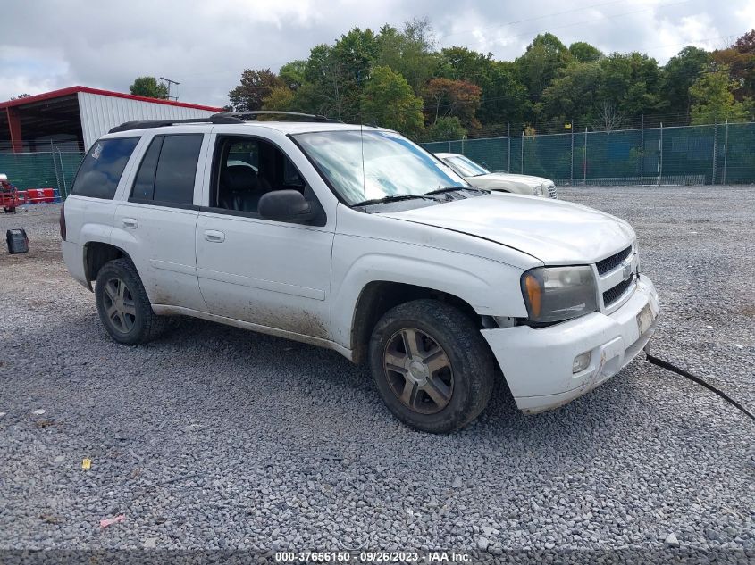
<svg viewBox="0 0 755 565">
<path fill-rule="evenodd" d="M 388 340 L 383 369 L 390 390 L 409 410 L 435 414 L 449 405 L 454 373 L 448 354 L 430 335 L 402 328 Z"/>
</svg>

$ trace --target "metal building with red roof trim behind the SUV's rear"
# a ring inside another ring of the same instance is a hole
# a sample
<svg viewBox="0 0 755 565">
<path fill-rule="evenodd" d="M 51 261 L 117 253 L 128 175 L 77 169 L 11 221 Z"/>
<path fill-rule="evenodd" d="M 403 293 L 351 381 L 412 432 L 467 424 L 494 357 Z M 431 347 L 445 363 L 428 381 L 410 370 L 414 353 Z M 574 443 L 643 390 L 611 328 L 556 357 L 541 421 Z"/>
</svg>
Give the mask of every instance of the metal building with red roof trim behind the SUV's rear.
<svg viewBox="0 0 755 565">
<path fill-rule="evenodd" d="M 0 152 L 88 150 L 98 137 L 130 120 L 204 118 L 222 108 L 70 87 L 0 103 Z"/>
</svg>

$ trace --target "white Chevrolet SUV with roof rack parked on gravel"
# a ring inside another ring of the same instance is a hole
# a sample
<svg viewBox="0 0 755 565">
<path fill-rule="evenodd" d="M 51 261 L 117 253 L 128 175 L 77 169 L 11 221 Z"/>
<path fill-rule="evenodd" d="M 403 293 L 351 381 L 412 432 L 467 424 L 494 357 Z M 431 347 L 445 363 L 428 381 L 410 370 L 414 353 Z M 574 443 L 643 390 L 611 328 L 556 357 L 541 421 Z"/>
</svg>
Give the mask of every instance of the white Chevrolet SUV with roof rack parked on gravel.
<svg viewBox="0 0 755 565">
<path fill-rule="evenodd" d="M 117 342 L 183 314 L 321 345 L 449 432 L 504 382 L 525 412 L 567 403 L 653 334 L 625 221 L 470 187 L 386 129 L 248 117 L 123 124 L 81 163 L 63 257 Z"/>
</svg>

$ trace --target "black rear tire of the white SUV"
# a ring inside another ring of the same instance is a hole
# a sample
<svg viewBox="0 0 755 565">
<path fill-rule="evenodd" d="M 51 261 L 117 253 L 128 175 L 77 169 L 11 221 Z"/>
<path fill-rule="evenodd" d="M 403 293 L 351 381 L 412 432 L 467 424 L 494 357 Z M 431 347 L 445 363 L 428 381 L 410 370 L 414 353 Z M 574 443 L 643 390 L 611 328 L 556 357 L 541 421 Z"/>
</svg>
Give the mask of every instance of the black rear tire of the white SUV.
<svg viewBox="0 0 755 565">
<path fill-rule="evenodd" d="M 118 290 L 121 288 L 114 281 L 120 281 L 124 291 L 121 297 L 122 309 L 111 315 L 108 312 L 114 312 L 113 306 L 118 309 L 118 304 L 113 303 L 113 295 L 119 295 Z M 152 311 L 144 285 L 128 259 L 106 262 L 99 270 L 95 283 L 95 301 L 107 333 L 119 344 L 145 344 L 163 333 L 168 325 L 164 317 L 157 316 Z"/>
</svg>

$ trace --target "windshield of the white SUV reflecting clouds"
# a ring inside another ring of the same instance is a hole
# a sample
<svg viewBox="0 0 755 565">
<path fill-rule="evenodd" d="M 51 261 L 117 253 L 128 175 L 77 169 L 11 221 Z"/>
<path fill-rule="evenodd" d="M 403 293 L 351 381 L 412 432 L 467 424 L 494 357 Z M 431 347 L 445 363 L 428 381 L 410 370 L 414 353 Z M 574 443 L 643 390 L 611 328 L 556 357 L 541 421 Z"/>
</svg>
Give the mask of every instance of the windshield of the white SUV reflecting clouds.
<svg viewBox="0 0 755 565">
<path fill-rule="evenodd" d="M 397 133 L 356 129 L 294 137 L 350 205 L 469 187 L 445 163 Z"/>
</svg>

